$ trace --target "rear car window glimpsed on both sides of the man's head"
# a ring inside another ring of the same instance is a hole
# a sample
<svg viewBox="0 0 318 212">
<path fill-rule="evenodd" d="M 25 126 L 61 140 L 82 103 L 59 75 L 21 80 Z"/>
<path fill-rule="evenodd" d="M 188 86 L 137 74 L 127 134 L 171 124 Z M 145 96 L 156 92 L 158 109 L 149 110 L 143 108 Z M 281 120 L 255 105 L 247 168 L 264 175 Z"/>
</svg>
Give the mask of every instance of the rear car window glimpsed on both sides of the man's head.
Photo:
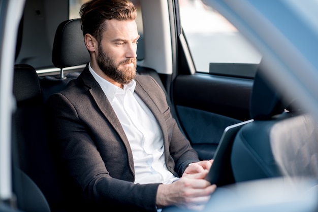
<svg viewBox="0 0 318 212">
<path fill-rule="evenodd" d="M 81 9 L 81 6 L 88 1 L 89 0 L 69 0 L 69 19 L 79 18 L 79 11 Z M 141 5 L 140 0 L 133 0 L 132 2 L 137 9 L 136 23 L 138 27 L 138 33 L 140 34 L 137 47 L 137 60 L 142 60 L 144 58 L 144 38 Z"/>
</svg>

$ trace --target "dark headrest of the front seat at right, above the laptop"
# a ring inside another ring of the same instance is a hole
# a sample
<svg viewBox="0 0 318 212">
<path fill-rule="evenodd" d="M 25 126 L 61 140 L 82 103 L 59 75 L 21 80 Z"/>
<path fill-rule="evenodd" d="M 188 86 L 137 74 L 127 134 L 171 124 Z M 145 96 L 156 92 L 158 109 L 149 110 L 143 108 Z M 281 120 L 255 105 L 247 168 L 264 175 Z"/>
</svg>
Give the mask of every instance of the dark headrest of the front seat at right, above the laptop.
<svg viewBox="0 0 318 212">
<path fill-rule="evenodd" d="M 250 116 L 255 120 L 271 119 L 287 108 L 287 105 L 282 102 L 281 95 L 266 81 L 262 68 L 260 64 L 250 97 Z"/>
</svg>

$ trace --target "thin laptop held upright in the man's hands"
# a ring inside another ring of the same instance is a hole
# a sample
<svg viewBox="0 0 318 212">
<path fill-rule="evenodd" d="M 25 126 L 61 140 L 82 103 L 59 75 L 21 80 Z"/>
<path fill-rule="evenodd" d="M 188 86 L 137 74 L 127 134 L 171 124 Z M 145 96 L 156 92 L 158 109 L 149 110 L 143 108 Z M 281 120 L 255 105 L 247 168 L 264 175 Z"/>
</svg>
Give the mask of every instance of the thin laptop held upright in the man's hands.
<svg viewBox="0 0 318 212">
<path fill-rule="evenodd" d="M 235 183 L 232 166 L 231 166 L 231 152 L 234 138 L 238 130 L 245 124 L 252 122 L 247 120 L 237 124 L 230 125 L 225 128 L 220 142 L 214 154 L 214 160 L 209 170 L 206 180 L 216 186 L 224 186 Z"/>
</svg>

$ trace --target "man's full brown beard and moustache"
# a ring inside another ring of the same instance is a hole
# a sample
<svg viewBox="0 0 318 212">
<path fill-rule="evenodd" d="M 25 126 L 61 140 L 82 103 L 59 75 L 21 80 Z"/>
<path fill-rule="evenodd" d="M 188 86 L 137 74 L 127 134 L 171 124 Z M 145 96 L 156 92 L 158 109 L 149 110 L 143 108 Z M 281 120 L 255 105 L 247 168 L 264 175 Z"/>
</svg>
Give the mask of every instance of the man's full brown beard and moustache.
<svg viewBox="0 0 318 212">
<path fill-rule="evenodd" d="M 119 68 L 119 65 L 130 62 L 134 63 L 134 67 Z M 130 58 L 121 61 L 116 66 L 114 64 L 114 61 L 110 57 L 108 57 L 106 53 L 103 51 L 103 47 L 100 44 L 98 45 L 97 63 L 100 66 L 101 70 L 105 73 L 105 75 L 107 75 L 110 79 L 122 85 L 130 83 L 136 76 L 136 58 Z"/>
</svg>

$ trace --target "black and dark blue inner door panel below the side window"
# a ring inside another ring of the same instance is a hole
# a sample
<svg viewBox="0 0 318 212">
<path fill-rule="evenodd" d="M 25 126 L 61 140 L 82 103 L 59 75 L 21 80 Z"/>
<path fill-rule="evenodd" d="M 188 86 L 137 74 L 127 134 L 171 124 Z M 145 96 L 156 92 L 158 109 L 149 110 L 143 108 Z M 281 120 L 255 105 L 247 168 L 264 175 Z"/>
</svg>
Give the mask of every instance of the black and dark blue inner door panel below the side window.
<svg viewBox="0 0 318 212">
<path fill-rule="evenodd" d="M 252 83 L 198 73 L 175 79 L 173 100 L 179 123 L 200 159 L 213 158 L 227 126 L 249 119 Z"/>
</svg>

